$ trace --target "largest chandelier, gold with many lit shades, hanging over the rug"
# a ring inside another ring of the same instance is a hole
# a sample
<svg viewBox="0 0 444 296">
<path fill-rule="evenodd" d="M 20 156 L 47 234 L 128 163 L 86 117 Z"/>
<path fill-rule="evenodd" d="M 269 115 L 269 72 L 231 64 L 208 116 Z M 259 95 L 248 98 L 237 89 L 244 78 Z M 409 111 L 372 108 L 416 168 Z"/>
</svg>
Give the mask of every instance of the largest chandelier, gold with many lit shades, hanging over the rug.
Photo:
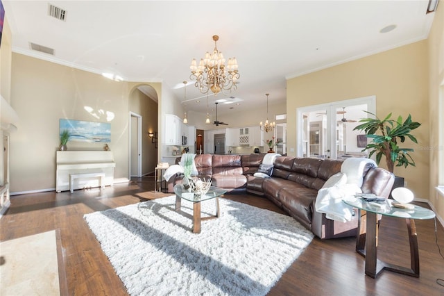
<svg viewBox="0 0 444 296">
<path fill-rule="evenodd" d="M 214 93 L 214 96 L 219 92 L 229 94 L 232 89 L 237 89 L 237 79 L 240 77 L 237 70 L 237 60 L 236 58 L 228 58 L 228 65 L 225 66 L 225 58 L 216 47 L 219 36 L 214 35 L 213 40 L 214 51 L 212 54 L 207 51 L 205 58 L 200 59 L 199 65 L 197 65 L 195 58 L 191 61 L 191 66 L 189 66 L 191 75 L 189 78 L 196 80 L 194 85 L 203 94 L 210 90 Z"/>
</svg>

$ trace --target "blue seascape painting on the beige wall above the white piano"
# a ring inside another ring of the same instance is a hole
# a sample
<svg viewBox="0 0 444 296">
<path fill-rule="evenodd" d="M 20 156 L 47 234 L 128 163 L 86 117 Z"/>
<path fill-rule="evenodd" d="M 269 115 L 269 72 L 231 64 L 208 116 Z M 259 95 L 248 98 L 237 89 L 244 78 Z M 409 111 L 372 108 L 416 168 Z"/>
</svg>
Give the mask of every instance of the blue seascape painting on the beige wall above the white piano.
<svg viewBox="0 0 444 296">
<path fill-rule="evenodd" d="M 76 142 L 111 142 L 111 124 L 60 119 L 60 135 L 69 131 L 69 140 Z"/>
</svg>

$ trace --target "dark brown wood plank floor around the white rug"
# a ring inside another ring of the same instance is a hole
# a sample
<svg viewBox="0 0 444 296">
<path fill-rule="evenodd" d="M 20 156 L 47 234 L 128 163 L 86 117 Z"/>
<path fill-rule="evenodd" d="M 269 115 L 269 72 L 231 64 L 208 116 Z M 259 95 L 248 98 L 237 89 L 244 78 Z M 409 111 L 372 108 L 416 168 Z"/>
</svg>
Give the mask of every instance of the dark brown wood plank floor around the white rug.
<svg viewBox="0 0 444 296">
<path fill-rule="evenodd" d="M 153 188 L 153 177 L 144 177 L 103 190 L 13 196 L 10 209 L 0 219 L 0 240 L 60 229 L 69 295 L 127 295 L 83 215 L 167 196 L 153 193 Z M 225 198 L 282 213 L 261 197 L 225 195 Z M 436 283 L 436 279 L 444 279 L 444 259 L 435 243 L 434 220 L 417 220 L 416 229 L 419 278 L 384 271 L 377 279 L 371 279 L 364 274 L 364 258 L 355 252 L 355 238 L 314 238 L 269 295 L 444 295 L 444 287 Z M 438 245 L 444 252 L 444 230 L 440 224 Z M 383 218 L 378 257 L 409 266 L 404 220 Z"/>
</svg>

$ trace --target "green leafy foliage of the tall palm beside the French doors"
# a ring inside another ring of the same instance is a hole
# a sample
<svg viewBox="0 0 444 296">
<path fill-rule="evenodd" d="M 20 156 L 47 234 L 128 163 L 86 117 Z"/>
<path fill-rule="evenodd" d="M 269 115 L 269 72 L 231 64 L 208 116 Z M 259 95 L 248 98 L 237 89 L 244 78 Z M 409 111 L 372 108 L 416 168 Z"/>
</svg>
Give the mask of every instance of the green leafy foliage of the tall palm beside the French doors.
<svg viewBox="0 0 444 296">
<path fill-rule="evenodd" d="M 411 115 L 405 121 L 398 116 L 397 120 L 392 120 L 392 113 L 388 114 L 383 120 L 380 120 L 373 113 L 366 113 L 373 115 L 375 118 L 363 118 L 359 120 L 361 124 L 353 130 L 365 131 L 366 137 L 372 141 L 362 150 L 370 152 L 369 157 L 376 154 L 376 163 L 386 158 L 387 170 L 393 173 L 395 166 L 407 167 L 408 165 L 415 166 L 415 161 L 411 157 L 412 148 L 402 148 L 401 143 L 409 138 L 412 142 L 418 143 L 418 140 L 411 134 L 413 129 L 417 129 L 421 124 L 413 122 Z"/>
</svg>

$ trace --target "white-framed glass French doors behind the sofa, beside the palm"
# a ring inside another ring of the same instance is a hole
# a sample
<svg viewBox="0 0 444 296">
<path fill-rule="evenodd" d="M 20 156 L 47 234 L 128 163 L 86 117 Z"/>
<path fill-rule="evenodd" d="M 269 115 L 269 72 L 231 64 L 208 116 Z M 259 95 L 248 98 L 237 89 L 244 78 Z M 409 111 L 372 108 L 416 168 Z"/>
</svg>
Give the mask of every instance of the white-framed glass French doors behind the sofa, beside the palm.
<svg viewBox="0 0 444 296">
<path fill-rule="evenodd" d="M 298 157 L 347 158 L 366 156 L 362 132 L 354 131 L 361 118 L 375 114 L 376 97 L 363 97 L 330 104 L 298 108 Z"/>
</svg>

